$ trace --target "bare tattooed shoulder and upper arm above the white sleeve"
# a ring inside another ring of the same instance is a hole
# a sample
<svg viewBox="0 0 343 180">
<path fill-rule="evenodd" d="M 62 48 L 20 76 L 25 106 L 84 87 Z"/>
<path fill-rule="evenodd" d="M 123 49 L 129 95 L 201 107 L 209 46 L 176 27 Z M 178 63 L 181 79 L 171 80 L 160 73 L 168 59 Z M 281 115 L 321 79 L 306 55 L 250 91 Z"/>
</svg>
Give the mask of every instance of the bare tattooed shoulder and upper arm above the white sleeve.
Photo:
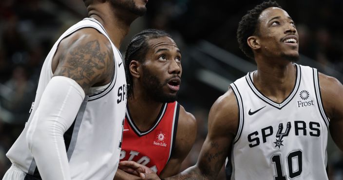
<svg viewBox="0 0 343 180">
<path fill-rule="evenodd" d="M 94 28 L 83 28 L 61 40 L 52 62 L 54 76 L 75 80 L 85 92 L 105 85 L 114 73 L 110 41 Z"/>
</svg>

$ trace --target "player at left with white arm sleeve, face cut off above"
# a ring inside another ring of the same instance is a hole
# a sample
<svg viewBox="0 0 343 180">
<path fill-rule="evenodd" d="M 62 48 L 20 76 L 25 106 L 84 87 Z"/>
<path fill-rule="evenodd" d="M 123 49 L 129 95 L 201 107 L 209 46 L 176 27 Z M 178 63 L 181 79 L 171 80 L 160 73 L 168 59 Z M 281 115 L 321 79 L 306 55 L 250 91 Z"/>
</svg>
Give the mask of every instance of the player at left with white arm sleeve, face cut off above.
<svg viewBox="0 0 343 180">
<path fill-rule="evenodd" d="M 3 180 L 113 180 L 126 79 L 119 48 L 147 0 L 84 0 L 89 18 L 48 54 L 26 126 Z"/>
</svg>

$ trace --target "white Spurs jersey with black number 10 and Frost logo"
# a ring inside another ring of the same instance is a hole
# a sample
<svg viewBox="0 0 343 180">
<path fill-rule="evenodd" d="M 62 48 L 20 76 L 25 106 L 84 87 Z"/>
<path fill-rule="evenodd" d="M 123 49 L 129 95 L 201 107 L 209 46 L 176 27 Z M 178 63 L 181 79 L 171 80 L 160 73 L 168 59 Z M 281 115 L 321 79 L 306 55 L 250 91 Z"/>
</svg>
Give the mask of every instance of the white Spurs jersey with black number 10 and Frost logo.
<svg viewBox="0 0 343 180">
<path fill-rule="evenodd" d="M 252 72 L 230 84 L 239 106 L 239 127 L 226 167 L 228 180 L 328 180 L 329 119 L 318 72 L 294 65 L 295 86 L 281 103 L 256 89 Z"/>
</svg>

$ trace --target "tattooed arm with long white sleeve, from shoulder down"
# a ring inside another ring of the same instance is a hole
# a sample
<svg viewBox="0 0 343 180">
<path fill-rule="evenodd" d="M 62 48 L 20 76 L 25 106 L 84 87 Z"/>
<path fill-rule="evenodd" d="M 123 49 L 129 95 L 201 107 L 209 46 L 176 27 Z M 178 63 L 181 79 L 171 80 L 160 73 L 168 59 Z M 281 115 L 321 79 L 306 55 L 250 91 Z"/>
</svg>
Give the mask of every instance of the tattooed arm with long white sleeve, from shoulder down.
<svg viewBox="0 0 343 180">
<path fill-rule="evenodd" d="M 110 42 L 85 28 L 62 40 L 26 139 L 43 180 L 71 180 L 63 134 L 71 126 L 90 87 L 110 82 L 114 73 Z M 107 77 L 109 76 L 109 78 Z"/>
</svg>

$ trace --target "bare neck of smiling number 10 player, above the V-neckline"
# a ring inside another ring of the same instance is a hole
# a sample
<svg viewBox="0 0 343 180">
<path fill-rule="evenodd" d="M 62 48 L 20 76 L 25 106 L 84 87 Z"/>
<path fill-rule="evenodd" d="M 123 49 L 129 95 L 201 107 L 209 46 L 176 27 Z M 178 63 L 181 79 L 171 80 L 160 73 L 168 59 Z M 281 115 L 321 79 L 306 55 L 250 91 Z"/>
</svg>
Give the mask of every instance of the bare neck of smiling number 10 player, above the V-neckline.
<svg viewBox="0 0 343 180">
<path fill-rule="evenodd" d="M 255 87 L 269 99 L 281 103 L 296 83 L 296 66 L 285 60 L 256 60 Z"/>
</svg>

